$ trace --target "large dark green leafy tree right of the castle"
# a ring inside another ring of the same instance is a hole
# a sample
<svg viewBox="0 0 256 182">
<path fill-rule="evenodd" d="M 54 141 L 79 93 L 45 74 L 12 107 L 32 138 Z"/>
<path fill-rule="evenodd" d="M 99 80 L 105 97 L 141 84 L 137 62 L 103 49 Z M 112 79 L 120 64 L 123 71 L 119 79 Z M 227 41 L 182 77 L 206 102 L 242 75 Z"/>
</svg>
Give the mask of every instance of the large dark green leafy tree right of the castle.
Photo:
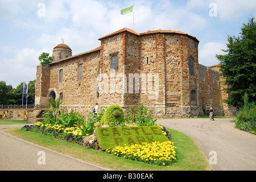
<svg viewBox="0 0 256 182">
<path fill-rule="evenodd" d="M 221 76 L 229 94 L 226 103 L 243 106 L 243 96 L 247 93 L 251 102 L 256 101 L 256 22 L 251 18 L 243 24 L 240 36 L 228 36 L 225 55 L 216 55 L 221 62 Z"/>
</svg>

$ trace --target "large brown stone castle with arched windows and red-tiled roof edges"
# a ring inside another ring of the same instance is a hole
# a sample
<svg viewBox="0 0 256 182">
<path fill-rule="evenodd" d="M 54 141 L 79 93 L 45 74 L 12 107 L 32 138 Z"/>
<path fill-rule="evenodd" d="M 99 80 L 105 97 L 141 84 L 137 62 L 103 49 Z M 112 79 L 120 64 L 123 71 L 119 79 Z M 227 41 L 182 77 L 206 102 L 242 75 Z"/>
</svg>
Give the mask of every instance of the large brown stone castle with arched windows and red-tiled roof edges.
<svg viewBox="0 0 256 182">
<path fill-rule="evenodd" d="M 85 114 L 98 102 L 125 112 L 143 103 L 163 118 L 207 115 L 210 106 L 216 115 L 233 115 L 222 102 L 218 65 L 198 64 L 195 36 L 123 28 L 98 40 L 101 46 L 78 55 L 66 44 L 54 47 L 53 62 L 37 66 L 35 104 L 61 97 L 67 109 Z"/>
</svg>

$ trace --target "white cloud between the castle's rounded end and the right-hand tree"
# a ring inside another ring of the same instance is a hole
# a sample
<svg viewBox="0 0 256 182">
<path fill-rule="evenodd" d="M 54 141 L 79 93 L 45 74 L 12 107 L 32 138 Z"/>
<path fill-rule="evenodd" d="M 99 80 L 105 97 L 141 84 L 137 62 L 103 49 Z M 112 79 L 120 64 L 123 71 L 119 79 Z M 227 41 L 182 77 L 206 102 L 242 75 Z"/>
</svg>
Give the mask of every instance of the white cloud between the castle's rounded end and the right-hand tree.
<svg viewBox="0 0 256 182">
<path fill-rule="evenodd" d="M 199 48 L 198 62 L 205 66 L 211 66 L 219 64 L 219 60 L 216 58 L 217 54 L 223 54 L 222 49 L 226 49 L 225 42 L 208 42 Z"/>
</svg>

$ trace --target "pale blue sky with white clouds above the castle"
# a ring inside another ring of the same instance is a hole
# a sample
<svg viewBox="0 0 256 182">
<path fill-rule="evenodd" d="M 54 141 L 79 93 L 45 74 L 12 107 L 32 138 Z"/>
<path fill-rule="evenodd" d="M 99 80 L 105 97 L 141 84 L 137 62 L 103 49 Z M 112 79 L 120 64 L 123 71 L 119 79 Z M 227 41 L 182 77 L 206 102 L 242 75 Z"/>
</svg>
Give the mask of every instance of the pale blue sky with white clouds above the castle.
<svg viewBox="0 0 256 182">
<path fill-rule="evenodd" d="M 16 88 L 35 80 L 38 56 L 52 55 L 59 43 L 73 55 L 100 46 L 102 36 L 127 27 L 133 13 L 120 10 L 134 4 L 134 29 L 179 30 L 200 41 L 199 64 L 218 64 L 227 35 L 238 35 L 256 15 L 255 0 L 0 0 L 0 81 Z"/>
</svg>

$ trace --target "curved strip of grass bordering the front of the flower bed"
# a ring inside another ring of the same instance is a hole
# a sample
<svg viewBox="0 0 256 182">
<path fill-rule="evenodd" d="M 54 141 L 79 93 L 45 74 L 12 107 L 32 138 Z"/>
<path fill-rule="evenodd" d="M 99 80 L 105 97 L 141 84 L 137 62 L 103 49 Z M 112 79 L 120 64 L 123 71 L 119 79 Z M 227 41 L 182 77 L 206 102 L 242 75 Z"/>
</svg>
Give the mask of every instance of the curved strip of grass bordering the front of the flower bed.
<svg viewBox="0 0 256 182">
<path fill-rule="evenodd" d="M 9 119 L 8 119 L 9 120 Z M 0 120 L 0 124 L 4 121 Z M 13 122 L 13 121 L 12 121 Z M 167 129 L 167 128 L 166 128 Z M 38 144 L 51 150 L 61 152 L 62 154 L 72 156 L 73 158 L 81 159 L 97 166 L 105 167 L 111 170 L 124 171 L 208 171 L 211 170 L 209 162 L 205 155 L 199 149 L 194 140 L 187 135 L 172 129 L 167 129 L 172 135 L 172 141 L 177 146 L 177 162 L 172 166 L 153 166 L 134 160 L 119 158 L 115 155 L 107 154 L 106 152 L 93 150 L 61 141 L 55 138 L 42 135 L 40 133 L 32 133 L 22 131 L 21 128 L 10 128 L 1 130 L 7 134 L 27 140 L 31 143 Z M 122 166 L 122 168 L 120 168 Z"/>
</svg>

